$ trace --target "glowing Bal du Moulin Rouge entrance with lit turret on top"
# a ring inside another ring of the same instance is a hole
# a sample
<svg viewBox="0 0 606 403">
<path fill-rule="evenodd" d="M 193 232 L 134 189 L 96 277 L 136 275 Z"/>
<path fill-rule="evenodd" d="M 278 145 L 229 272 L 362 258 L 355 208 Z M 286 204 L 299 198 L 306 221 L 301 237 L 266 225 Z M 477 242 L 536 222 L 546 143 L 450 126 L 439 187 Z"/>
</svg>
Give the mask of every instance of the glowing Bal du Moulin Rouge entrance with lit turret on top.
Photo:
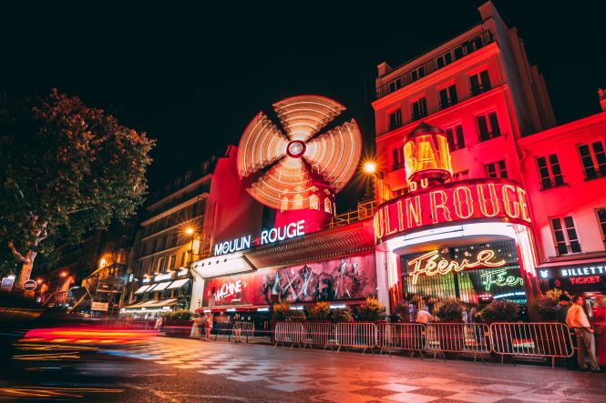
<svg viewBox="0 0 606 403">
<path fill-rule="evenodd" d="M 525 305 L 536 297 L 525 189 L 504 178 L 453 181 L 446 137 L 435 127 L 406 136 L 405 156 L 407 192 L 375 212 L 377 267 L 387 267 L 380 299 L 393 307 L 403 298 Z"/>
</svg>

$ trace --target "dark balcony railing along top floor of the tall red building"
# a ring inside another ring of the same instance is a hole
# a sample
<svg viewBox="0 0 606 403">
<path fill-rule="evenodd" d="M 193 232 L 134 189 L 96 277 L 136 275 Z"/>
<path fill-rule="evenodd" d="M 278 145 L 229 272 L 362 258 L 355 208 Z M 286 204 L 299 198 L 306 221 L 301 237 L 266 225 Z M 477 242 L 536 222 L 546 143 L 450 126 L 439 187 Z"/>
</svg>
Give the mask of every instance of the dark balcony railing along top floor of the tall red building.
<svg viewBox="0 0 606 403">
<path fill-rule="evenodd" d="M 421 65 L 416 65 L 414 68 L 411 68 L 400 76 L 396 76 L 383 86 L 377 87 L 376 99 L 387 96 L 403 86 L 408 86 L 419 78 L 430 75 L 440 68 L 481 49 L 493 41 L 492 33 L 490 31 L 483 31 L 481 34 L 473 36 L 463 43 L 451 47 L 446 52 L 437 55 L 433 59 L 428 60 Z"/>
</svg>

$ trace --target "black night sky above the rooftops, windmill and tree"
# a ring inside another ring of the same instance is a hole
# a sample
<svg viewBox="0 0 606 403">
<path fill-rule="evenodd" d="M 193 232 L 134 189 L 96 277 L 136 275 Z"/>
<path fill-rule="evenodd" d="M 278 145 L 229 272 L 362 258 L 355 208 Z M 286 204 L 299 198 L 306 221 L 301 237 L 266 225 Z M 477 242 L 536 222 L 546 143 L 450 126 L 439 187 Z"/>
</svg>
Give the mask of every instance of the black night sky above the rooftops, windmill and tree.
<svg viewBox="0 0 606 403">
<path fill-rule="evenodd" d="M 56 86 L 147 132 L 158 139 L 149 177 L 159 183 L 221 155 L 286 96 L 333 97 L 372 145 L 375 66 L 402 64 L 479 23 L 483 2 L 49 3 L 0 10 L 0 89 Z M 560 123 L 599 111 L 599 3 L 495 1 L 544 74 Z"/>
</svg>

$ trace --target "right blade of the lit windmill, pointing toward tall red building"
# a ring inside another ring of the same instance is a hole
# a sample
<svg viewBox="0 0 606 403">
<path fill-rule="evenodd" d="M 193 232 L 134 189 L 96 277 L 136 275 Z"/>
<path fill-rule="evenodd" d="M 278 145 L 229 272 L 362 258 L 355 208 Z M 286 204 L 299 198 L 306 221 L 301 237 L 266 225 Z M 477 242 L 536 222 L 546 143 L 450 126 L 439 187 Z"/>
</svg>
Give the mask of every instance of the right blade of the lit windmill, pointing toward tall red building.
<svg viewBox="0 0 606 403">
<path fill-rule="evenodd" d="M 335 192 L 341 190 L 354 176 L 362 154 L 360 128 L 352 119 L 305 144 L 303 154 L 313 172 L 324 176 Z"/>
</svg>

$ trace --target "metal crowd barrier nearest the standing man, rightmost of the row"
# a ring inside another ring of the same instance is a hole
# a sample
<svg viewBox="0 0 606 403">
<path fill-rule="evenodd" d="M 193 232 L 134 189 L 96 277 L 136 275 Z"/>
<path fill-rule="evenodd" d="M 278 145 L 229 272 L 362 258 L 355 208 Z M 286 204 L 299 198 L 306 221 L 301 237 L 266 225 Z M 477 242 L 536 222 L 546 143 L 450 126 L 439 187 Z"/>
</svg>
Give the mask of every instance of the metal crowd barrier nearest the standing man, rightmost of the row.
<svg viewBox="0 0 606 403">
<path fill-rule="evenodd" d="M 574 353 L 570 328 L 561 323 L 506 323 L 490 325 L 492 350 L 501 356 L 568 358 Z"/>
</svg>

